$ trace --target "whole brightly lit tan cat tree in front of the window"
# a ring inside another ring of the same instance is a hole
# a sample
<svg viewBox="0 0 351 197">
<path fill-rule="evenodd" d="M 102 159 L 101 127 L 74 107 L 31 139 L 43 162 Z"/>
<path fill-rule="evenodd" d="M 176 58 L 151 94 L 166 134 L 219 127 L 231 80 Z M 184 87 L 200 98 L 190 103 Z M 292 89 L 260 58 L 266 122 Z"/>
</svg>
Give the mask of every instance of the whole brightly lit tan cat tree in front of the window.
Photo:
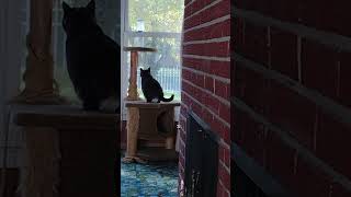
<svg viewBox="0 0 351 197">
<path fill-rule="evenodd" d="M 172 149 L 174 148 L 174 107 L 180 106 L 180 103 L 146 103 L 140 100 L 137 92 L 138 53 L 155 53 L 156 49 L 125 47 L 124 50 L 131 51 L 131 76 L 128 95 L 125 99 L 127 107 L 127 148 L 123 161 L 144 163 L 145 160 L 167 160 L 168 158 L 174 158 L 173 154 L 169 157 L 170 154 L 162 152 L 162 150 L 172 152 Z M 157 117 L 161 113 L 165 113 L 166 118 L 163 124 L 169 128 L 169 134 L 166 137 L 160 137 L 156 126 Z M 166 149 L 138 152 L 138 139 L 163 140 L 163 138 L 166 138 Z"/>
</svg>

